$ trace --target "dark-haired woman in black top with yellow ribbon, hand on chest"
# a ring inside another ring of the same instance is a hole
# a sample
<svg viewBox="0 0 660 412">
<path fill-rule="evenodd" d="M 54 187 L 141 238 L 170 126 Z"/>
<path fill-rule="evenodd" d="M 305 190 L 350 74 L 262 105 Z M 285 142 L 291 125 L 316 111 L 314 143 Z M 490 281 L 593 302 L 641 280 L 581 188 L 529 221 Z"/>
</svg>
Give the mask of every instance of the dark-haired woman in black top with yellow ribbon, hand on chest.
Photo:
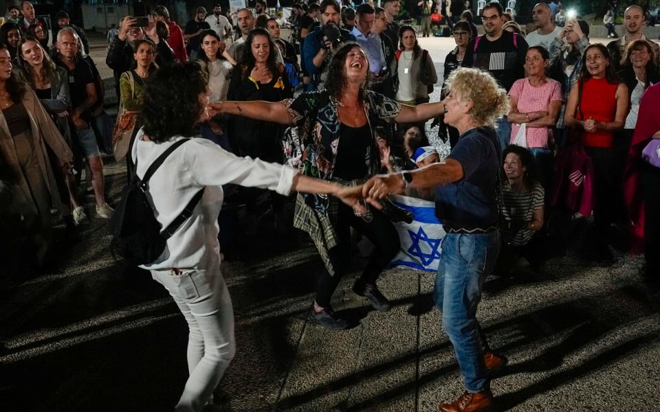
<svg viewBox="0 0 660 412">
<path fill-rule="evenodd" d="M 256 28 L 248 34 L 245 45 L 243 60 L 232 73 L 228 99 L 279 102 L 292 98 L 285 68 L 276 62 L 277 47 L 270 33 Z M 230 133 L 231 145 L 236 155 L 282 163 L 280 140 L 283 132 L 283 128 L 274 122 L 236 117 L 233 133 Z"/>
</svg>

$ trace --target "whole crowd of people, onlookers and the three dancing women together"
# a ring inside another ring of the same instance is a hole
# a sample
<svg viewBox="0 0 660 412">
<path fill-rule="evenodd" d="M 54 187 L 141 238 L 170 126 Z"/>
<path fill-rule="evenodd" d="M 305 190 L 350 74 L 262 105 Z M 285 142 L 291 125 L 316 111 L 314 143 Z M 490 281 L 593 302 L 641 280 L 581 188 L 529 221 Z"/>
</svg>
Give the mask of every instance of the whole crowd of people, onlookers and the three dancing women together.
<svg viewBox="0 0 660 412">
<path fill-rule="evenodd" d="M 659 263 L 652 154 L 660 152 L 660 47 L 643 35 L 637 5 L 624 11 L 626 33 L 602 45 L 589 42 L 581 19 L 557 25 L 552 4 L 534 6 L 529 34 L 497 1 L 480 10 L 483 36 L 470 10 L 456 9 L 439 102 L 430 102 L 438 73 L 417 41 L 428 35 L 431 1 L 418 4 L 421 32 L 397 22 L 398 0 L 296 3 L 288 22 L 270 16 L 263 0 L 233 15 L 199 7 L 184 28 L 158 5 L 146 20 L 124 17 L 109 35 L 106 64 L 119 100 L 112 128 L 84 30 L 58 12 L 50 39 L 24 1 L 23 16 L 0 27 L 0 227 L 12 233 L 1 247 L 14 256 L 7 267 L 49 268 L 54 218 L 67 240 L 89 220 L 86 185 L 96 216 L 111 218 L 102 152 L 126 163 L 128 181 L 166 156 L 148 185 L 159 224 L 169 227 L 192 199 L 199 203 L 166 252 L 141 267 L 188 323 L 190 376 L 176 409 L 199 411 L 235 352 L 220 269 L 223 204 L 266 199 L 282 217 L 283 204 L 295 202 L 292 225 L 309 233 L 325 266 L 308 319 L 342 330 L 351 322 L 331 301 L 351 270 L 354 233 L 374 248 L 353 291 L 389 310 L 377 281 L 400 249 L 393 223 L 412 216 L 388 195 L 432 200 L 446 232 L 434 300 L 466 388 L 441 410 L 491 410 L 490 376 L 507 358 L 490 350 L 476 319 L 485 277 L 507 282 L 520 257 L 542 271 L 549 251 L 566 253 L 574 222 L 592 211 L 580 258 L 615 263 L 613 233 L 626 232 L 628 249 L 645 253 L 648 277 Z M 430 119 L 449 141 L 446 159 L 429 145 Z"/>
</svg>

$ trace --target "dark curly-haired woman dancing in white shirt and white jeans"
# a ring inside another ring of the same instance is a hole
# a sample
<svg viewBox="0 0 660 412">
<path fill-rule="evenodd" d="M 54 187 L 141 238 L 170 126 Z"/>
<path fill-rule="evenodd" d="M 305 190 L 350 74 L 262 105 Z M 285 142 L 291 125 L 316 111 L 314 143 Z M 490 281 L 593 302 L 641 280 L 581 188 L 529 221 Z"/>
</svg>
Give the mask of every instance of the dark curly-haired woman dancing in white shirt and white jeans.
<svg viewBox="0 0 660 412">
<path fill-rule="evenodd" d="M 206 72 L 197 62 L 166 65 L 151 76 L 143 94 L 144 126 L 131 153 L 137 176 L 144 176 L 170 146 L 195 135 L 195 126 L 213 114 L 207 82 Z M 358 187 L 341 187 L 287 166 L 236 157 L 207 139 L 190 139 L 167 157 L 148 187 L 148 198 L 162 227 L 168 227 L 201 194 L 190 218 L 168 238 L 161 257 L 142 266 L 168 290 L 188 322 L 190 376 L 175 411 L 200 411 L 234 357 L 234 314 L 220 271 L 217 222 L 222 185 L 227 183 L 280 194 L 332 194 L 348 207 L 362 209 Z"/>
</svg>

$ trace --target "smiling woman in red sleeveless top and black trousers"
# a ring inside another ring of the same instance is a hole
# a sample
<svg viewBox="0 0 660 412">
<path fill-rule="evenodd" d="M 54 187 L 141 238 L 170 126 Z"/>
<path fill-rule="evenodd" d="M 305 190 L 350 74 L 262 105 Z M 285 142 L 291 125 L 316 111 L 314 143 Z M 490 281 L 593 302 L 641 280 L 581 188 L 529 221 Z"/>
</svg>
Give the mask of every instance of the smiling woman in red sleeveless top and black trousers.
<svg viewBox="0 0 660 412">
<path fill-rule="evenodd" d="M 595 207 L 594 230 L 584 255 L 588 260 L 611 264 L 608 234 L 613 222 L 615 184 L 614 135 L 624 128 L 628 114 L 628 87 L 614 71 L 607 48 L 590 45 L 584 51 L 580 78 L 571 89 L 564 122 L 577 130 L 580 141 L 593 161 Z"/>
</svg>

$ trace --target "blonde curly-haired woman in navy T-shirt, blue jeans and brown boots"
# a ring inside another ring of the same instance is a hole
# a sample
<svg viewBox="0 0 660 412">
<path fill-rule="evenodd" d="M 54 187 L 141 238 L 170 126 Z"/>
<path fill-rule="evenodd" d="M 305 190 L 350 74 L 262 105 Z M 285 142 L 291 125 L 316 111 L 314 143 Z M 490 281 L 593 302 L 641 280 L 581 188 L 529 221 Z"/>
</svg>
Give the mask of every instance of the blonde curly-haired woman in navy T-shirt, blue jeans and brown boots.
<svg viewBox="0 0 660 412">
<path fill-rule="evenodd" d="M 459 141 L 441 163 L 386 176 L 364 184 L 371 200 L 404 187 L 436 187 L 435 214 L 447 234 L 435 279 L 434 298 L 443 328 L 454 345 L 466 391 L 441 411 L 489 411 L 494 406 L 489 372 L 506 365 L 485 341 L 476 309 L 484 279 L 493 271 L 500 251 L 496 193 L 501 148 L 495 119 L 509 110 L 507 91 L 479 69 L 460 67 L 447 80 L 444 122 L 459 130 Z"/>
</svg>

